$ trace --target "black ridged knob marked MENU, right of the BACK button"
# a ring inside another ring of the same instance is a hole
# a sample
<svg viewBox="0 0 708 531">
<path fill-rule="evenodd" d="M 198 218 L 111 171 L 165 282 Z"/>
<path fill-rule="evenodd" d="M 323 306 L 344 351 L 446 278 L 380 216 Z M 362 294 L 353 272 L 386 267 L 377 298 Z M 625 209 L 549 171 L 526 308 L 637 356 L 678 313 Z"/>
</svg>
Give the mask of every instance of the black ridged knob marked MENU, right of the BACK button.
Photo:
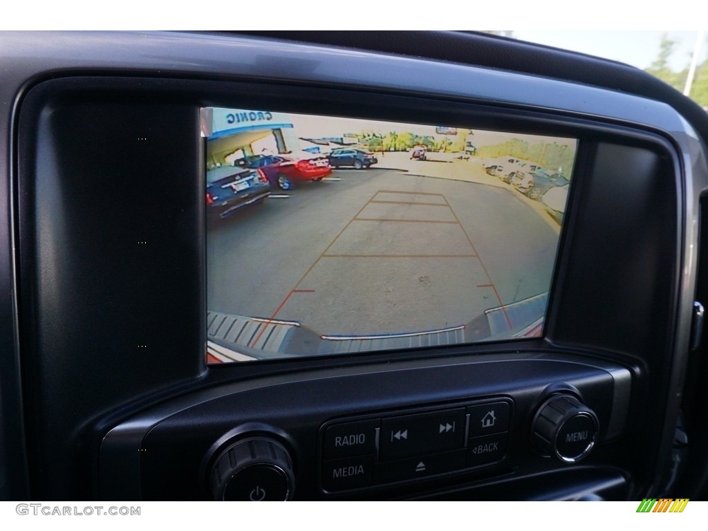
<svg viewBox="0 0 708 531">
<path fill-rule="evenodd" d="M 539 407 L 533 441 L 541 455 L 566 463 L 586 457 L 598 437 L 598 417 L 572 394 L 554 394 Z"/>
</svg>

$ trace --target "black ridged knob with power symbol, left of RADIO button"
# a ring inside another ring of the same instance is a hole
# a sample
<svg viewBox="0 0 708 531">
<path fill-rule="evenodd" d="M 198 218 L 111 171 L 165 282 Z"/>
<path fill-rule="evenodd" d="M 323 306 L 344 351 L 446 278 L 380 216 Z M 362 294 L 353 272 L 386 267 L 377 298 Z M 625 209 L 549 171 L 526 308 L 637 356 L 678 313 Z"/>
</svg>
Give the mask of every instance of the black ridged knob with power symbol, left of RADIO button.
<svg viewBox="0 0 708 531">
<path fill-rule="evenodd" d="M 280 442 L 251 437 L 227 446 L 212 467 L 212 494 L 219 501 L 285 501 L 292 498 L 292 459 Z"/>
</svg>

